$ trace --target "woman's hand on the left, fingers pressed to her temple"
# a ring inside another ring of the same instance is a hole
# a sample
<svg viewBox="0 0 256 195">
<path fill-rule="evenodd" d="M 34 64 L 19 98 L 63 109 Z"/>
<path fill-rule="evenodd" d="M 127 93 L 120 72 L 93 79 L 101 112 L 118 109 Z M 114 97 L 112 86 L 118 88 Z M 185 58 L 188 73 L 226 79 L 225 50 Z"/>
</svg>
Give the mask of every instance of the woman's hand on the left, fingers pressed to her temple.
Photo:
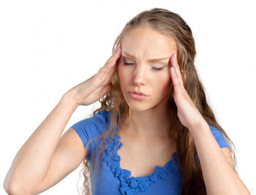
<svg viewBox="0 0 256 195">
<path fill-rule="evenodd" d="M 74 86 L 66 94 L 69 94 L 78 106 L 90 105 L 98 101 L 104 94 L 112 90 L 112 83 L 109 80 L 117 68 L 120 56 L 121 43 L 117 46 L 106 64 L 96 74 L 90 79 L 83 81 L 83 83 Z"/>
</svg>

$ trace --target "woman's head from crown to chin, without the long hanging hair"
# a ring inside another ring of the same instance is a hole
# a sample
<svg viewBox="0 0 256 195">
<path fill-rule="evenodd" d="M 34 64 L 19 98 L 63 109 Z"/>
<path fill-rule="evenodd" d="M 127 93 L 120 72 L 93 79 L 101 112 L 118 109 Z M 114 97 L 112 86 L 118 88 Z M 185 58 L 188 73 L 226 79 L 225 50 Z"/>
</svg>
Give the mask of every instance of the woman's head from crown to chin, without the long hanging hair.
<svg viewBox="0 0 256 195">
<path fill-rule="evenodd" d="M 191 29 L 180 15 L 166 9 L 155 8 L 136 15 L 115 40 L 113 52 L 119 43 L 122 44 L 122 54 L 111 81 L 116 90 L 115 95 L 118 94 L 121 99 L 125 99 L 121 107 L 126 107 L 126 110 L 127 106 L 142 111 L 154 105 L 166 107 L 170 104 L 173 98 L 173 85 L 168 71 L 171 68 L 169 59 L 173 53 L 177 53 L 185 88 L 186 78 L 195 71 L 195 43 Z M 167 59 L 158 62 L 148 61 L 164 57 Z M 132 66 L 124 66 L 124 63 Z M 163 70 L 156 70 L 162 67 Z M 128 94 L 132 90 L 150 93 L 150 96 L 143 101 L 136 101 Z M 160 91 L 164 93 L 159 94 Z M 152 94 L 155 99 L 152 99 Z M 168 101 L 165 101 L 166 97 Z M 146 104 L 147 102 L 150 104 Z"/>
</svg>

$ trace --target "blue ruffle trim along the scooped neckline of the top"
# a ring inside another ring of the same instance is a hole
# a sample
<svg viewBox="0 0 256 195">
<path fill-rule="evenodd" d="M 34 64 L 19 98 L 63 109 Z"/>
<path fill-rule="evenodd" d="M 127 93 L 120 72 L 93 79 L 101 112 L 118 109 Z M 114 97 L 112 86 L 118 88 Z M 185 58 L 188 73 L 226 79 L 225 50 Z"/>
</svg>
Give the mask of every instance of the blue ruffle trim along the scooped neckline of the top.
<svg viewBox="0 0 256 195">
<path fill-rule="evenodd" d="M 169 160 L 164 167 L 155 166 L 155 171 L 146 177 L 130 177 L 131 172 L 120 167 L 120 156 L 117 150 L 122 147 L 122 142 L 119 141 L 121 137 L 115 134 L 114 138 L 110 140 L 110 135 L 106 140 L 110 142 L 107 146 L 103 161 L 107 163 L 115 177 L 121 181 L 120 191 L 123 195 L 135 195 L 139 192 L 147 191 L 153 182 L 157 182 L 160 178 L 167 180 L 169 172 L 175 172 L 176 168 L 179 170 L 177 163 L 177 153 L 173 153 L 171 160 Z M 115 151 L 113 151 L 115 149 Z"/>
</svg>

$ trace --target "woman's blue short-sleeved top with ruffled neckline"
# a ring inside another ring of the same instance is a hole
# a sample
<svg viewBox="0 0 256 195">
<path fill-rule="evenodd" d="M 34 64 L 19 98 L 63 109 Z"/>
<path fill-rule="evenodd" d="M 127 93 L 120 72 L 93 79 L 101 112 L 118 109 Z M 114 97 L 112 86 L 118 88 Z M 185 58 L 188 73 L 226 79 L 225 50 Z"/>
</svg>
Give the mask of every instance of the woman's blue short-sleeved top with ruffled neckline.
<svg viewBox="0 0 256 195">
<path fill-rule="evenodd" d="M 83 119 L 72 125 L 71 127 L 80 136 L 83 145 L 86 147 L 88 140 L 103 134 L 110 124 L 110 113 L 106 111 L 99 111 L 91 118 Z M 211 132 L 220 145 L 220 148 L 227 147 L 225 138 L 221 132 L 213 126 L 209 126 Z M 155 195 L 155 194 L 180 194 L 180 185 L 182 181 L 182 172 L 177 163 L 177 153 L 173 153 L 171 160 L 169 160 L 164 167 L 155 166 L 155 171 L 146 177 L 130 177 L 131 172 L 120 168 L 120 156 L 117 150 L 122 147 L 119 141 L 120 136 L 115 134 L 114 138 L 110 140 L 107 136 L 106 140 L 110 142 L 107 151 L 103 153 L 101 168 L 99 175 L 94 178 L 91 171 L 91 180 L 96 180 L 97 184 L 93 191 L 93 195 L 111 194 L 111 195 Z M 100 139 L 92 141 L 88 145 L 88 157 L 85 160 L 89 161 L 90 169 L 90 155 L 97 151 Z M 107 143 L 107 142 L 106 142 Z M 176 168 L 175 168 L 176 167 Z M 91 169 L 92 170 L 92 169 Z"/>
</svg>

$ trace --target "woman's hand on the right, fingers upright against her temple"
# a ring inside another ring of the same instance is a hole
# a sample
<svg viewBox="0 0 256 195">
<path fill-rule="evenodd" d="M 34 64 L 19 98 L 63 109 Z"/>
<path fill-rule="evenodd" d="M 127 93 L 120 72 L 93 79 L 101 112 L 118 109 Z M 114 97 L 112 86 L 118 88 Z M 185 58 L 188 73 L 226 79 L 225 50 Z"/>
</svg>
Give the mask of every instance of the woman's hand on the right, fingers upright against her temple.
<svg viewBox="0 0 256 195">
<path fill-rule="evenodd" d="M 197 107 L 195 107 L 195 104 L 184 88 L 176 55 L 176 53 L 173 53 L 170 58 L 172 67 L 170 68 L 169 72 L 173 82 L 174 101 L 177 106 L 177 115 L 182 125 L 190 130 L 196 129 L 196 127 L 202 123 L 206 123 L 206 121 L 202 117 Z"/>
</svg>

